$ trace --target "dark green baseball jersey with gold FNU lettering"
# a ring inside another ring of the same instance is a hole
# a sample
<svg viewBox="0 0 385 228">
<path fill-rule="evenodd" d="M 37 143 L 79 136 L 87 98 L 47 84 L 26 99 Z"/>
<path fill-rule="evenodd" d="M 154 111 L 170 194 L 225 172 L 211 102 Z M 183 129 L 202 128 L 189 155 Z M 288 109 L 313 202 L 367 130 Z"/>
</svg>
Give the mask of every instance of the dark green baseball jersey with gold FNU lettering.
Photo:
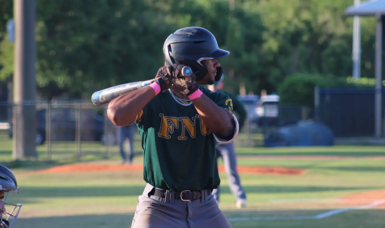
<svg viewBox="0 0 385 228">
<path fill-rule="evenodd" d="M 228 95 L 203 86 L 199 89 L 233 114 Z M 194 104 L 182 106 L 166 90 L 139 112 L 135 122 L 142 137 L 147 183 L 172 191 L 218 188 L 217 142 Z"/>
</svg>

